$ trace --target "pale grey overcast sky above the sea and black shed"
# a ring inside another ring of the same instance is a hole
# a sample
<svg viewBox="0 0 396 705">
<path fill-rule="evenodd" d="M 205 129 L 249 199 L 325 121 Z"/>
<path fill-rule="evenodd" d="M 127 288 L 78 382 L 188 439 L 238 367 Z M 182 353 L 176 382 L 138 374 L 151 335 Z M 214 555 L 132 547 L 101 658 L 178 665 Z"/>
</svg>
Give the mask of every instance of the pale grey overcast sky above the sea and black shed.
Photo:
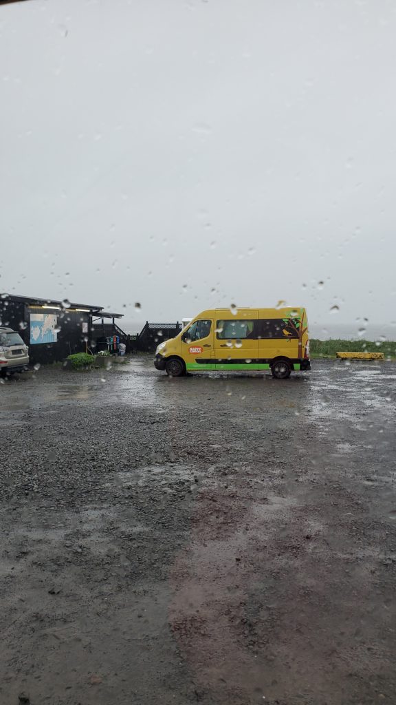
<svg viewBox="0 0 396 705">
<path fill-rule="evenodd" d="M 393 0 L 0 6 L 0 290 L 395 321 L 395 37 Z"/>
</svg>

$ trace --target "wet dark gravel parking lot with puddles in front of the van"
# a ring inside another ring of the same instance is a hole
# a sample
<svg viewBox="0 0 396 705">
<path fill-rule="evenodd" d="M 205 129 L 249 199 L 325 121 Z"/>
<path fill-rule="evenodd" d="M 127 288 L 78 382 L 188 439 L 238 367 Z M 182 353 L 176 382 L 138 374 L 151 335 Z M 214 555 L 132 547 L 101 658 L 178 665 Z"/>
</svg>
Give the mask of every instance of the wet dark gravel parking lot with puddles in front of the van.
<svg viewBox="0 0 396 705">
<path fill-rule="evenodd" d="M 2 384 L 1 705 L 395 703 L 395 381 Z"/>
</svg>

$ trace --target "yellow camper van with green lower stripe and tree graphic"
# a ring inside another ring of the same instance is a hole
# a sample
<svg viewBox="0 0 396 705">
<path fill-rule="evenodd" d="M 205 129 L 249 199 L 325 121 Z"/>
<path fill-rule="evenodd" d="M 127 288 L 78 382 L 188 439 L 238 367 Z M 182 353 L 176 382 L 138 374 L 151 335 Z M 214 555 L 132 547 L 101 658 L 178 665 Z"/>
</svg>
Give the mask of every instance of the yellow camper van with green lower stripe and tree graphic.
<svg viewBox="0 0 396 705">
<path fill-rule="evenodd" d="M 286 379 L 311 369 L 304 308 L 209 309 L 156 349 L 156 369 L 173 377 L 208 370 L 271 369 Z"/>
</svg>

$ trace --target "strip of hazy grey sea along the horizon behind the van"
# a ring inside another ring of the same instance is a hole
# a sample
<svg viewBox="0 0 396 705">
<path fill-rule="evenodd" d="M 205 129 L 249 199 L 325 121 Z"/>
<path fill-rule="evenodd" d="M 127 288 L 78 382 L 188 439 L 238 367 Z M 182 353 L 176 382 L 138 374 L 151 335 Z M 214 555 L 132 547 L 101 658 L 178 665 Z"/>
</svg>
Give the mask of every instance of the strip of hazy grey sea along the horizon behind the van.
<svg viewBox="0 0 396 705">
<path fill-rule="evenodd" d="M 159 323 L 159 321 L 151 321 L 154 323 Z M 164 323 L 170 323 L 171 321 L 164 321 Z M 129 335 L 136 335 L 140 333 L 144 326 L 145 321 L 123 321 L 123 319 L 118 320 L 118 325 L 125 333 Z M 364 330 L 361 330 L 364 329 Z M 360 323 L 359 321 L 354 321 L 353 323 L 332 323 L 332 324 L 317 324 L 314 321 L 309 322 L 309 334 L 311 338 L 318 338 L 321 341 L 328 341 L 331 338 L 340 338 L 346 341 L 354 340 L 366 340 L 366 341 L 396 341 L 396 323 L 395 324 L 374 324 L 374 323 Z"/>
</svg>

